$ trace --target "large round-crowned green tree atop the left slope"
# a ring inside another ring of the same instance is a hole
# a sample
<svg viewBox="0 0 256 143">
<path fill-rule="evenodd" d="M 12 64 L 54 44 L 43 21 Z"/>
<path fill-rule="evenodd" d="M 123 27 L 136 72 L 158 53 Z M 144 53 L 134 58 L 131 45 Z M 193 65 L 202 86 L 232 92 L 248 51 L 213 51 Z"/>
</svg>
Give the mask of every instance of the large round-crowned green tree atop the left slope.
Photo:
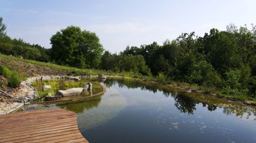
<svg viewBox="0 0 256 143">
<path fill-rule="evenodd" d="M 58 64 L 77 68 L 97 68 L 104 51 L 99 37 L 77 26 L 68 26 L 51 37 L 51 58 Z"/>
</svg>

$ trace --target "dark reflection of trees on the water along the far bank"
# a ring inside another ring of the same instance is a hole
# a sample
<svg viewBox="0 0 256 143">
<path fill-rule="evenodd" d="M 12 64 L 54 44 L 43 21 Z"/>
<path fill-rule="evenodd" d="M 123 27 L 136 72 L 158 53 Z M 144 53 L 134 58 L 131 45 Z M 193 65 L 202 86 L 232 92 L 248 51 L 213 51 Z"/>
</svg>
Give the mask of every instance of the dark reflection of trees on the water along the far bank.
<svg viewBox="0 0 256 143">
<path fill-rule="evenodd" d="M 218 99 L 212 96 L 192 94 L 192 93 L 179 93 L 173 91 L 172 89 L 156 85 L 154 83 L 143 83 L 128 79 L 108 79 L 105 81 L 105 86 L 110 88 L 114 85 L 118 85 L 120 88 L 140 88 L 141 90 L 152 91 L 153 93 L 162 92 L 164 96 L 171 96 L 175 99 L 175 107 L 180 110 L 180 112 L 194 114 L 196 106 L 202 104 L 203 107 L 207 107 L 209 111 L 216 110 L 217 107 L 223 108 L 223 113 L 226 115 L 234 114 L 237 117 L 243 117 L 246 114 L 246 118 L 250 116 L 255 117 L 256 108 L 252 106 L 246 106 L 236 102 L 229 102 L 225 99 Z M 171 93 L 175 94 L 171 94 Z M 256 120 L 256 118 L 255 118 Z"/>
</svg>

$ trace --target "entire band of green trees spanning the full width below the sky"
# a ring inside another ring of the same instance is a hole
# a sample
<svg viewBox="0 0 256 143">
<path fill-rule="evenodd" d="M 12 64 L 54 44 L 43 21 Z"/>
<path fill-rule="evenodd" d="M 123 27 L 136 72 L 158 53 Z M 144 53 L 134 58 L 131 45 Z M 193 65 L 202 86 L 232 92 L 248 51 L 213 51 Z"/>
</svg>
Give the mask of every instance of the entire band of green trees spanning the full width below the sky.
<svg viewBox="0 0 256 143">
<path fill-rule="evenodd" d="M 0 53 L 76 68 L 128 71 L 166 80 L 196 83 L 222 89 L 220 95 L 256 98 L 256 26 L 226 31 L 210 29 L 204 36 L 183 33 L 163 44 L 153 42 L 126 47 L 123 52 L 104 52 L 99 37 L 76 26 L 51 37 L 52 48 L 10 39 L 0 18 Z"/>
</svg>

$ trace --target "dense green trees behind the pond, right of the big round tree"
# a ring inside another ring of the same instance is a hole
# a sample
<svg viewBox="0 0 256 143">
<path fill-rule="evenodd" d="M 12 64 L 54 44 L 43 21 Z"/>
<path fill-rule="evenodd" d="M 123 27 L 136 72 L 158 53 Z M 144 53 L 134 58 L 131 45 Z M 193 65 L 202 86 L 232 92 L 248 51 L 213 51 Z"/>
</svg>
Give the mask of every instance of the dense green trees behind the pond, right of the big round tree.
<svg viewBox="0 0 256 143">
<path fill-rule="evenodd" d="M 134 71 L 223 89 L 220 95 L 256 98 L 256 31 L 246 26 L 210 29 L 203 37 L 183 33 L 163 45 L 153 42 L 102 55 L 101 69 Z M 139 59 L 139 60 L 138 60 Z M 142 64 L 145 63 L 145 64 Z M 143 65 L 143 66 L 142 66 Z"/>
</svg>

